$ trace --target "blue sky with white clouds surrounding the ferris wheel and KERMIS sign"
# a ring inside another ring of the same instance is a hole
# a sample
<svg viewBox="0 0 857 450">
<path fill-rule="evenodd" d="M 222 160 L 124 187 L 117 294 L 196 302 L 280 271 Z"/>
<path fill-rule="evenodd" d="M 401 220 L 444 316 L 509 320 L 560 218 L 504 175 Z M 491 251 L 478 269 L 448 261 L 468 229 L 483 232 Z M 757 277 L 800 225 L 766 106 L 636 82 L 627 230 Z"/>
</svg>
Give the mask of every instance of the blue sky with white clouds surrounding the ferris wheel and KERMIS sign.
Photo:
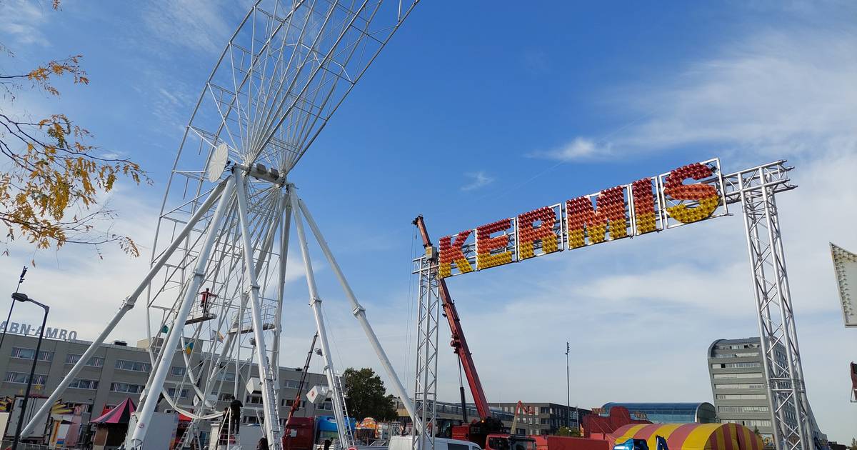
<svg viewBox="0 0 857 450">
<path fill-rule="evenodd" d="M 81 53 L 92 80 L 61 85 L 58 101 L 23 95 L 4 109 L 66 112 L 101 147 L 140 162 L 153 186 L 123 186 L 109 201 L 122 213 L 117 231 L 147 246 L 183 127 L 247 6 L 69 0 L 55 12 L 47 3 L 4 1 L 0 42 L 15 58 L 4 58 L 3 70 Z M 714 156 L 724 171 L 789 159 L 800 188 L 782 195 L 781 219 L 807 389 L 821 428 L 849 441 L 857 412 L 846 368 L 857 336 L 842 327 L 827 242 L 857 249 L 848 225 L 857 219 L 857 9 L 797 1 L 658 6 L 423 2 L 292 180 L 411 386 L 417 213 L 436 239 Z M 95 313 L 63 310 L 73 322 L 63 325 L 83 339 L 146 265 L 110 249 L 104 261 L 92 249 L 11 249 L 0 261 L 6 272 L 37 262 L 31 291 L 99 305 Z M 80 283 L 91 276 L 99 298 Z M 377 366 L 323 266 L 319 278 L 339 363 Z M 37 285 L 45 279 L 68 285 Z M 284 357 L 295 365 L 311 336 L 296 280 Z M 758 334 L 736 217 L 449 285 L 492 401 L 563 402 L 566 339 L 576 343 L 572 403 L 711 401 L 707 346 Z M 136 309 L 115 337 L 141 338 L 142 314 Z M 440 364 L 440 397 L 455 399 L 452 355 Z"/>
</svg>

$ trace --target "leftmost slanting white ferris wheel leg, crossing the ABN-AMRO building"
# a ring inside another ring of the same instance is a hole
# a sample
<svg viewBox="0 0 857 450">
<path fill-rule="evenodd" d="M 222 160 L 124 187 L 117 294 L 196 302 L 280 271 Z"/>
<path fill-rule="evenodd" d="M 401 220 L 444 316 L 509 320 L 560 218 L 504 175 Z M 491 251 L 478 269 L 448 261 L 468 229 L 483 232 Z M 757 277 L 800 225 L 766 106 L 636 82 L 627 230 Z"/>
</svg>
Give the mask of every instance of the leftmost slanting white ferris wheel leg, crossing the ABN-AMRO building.
<svg viewBox="0 0 857 450">
<path fill-rule="evenodd" d="M 51 411 L 51 407 L 53 406 L 53 404 L 57 401 L 57 399 L 60 398 L 61 395 L 63 395 L 66 387 L 69 387 L 69 383 L 75 381 L 75 376 L 77 376 L 81 369 L 83 369 L 87 365 L 87 363 L 89 362 L 89 358 L 93 356 L 93 353 L 95 353 L 95 351 L 99 349 L 99 346 L 104 343 L 105 339 L 107 339 L 107 336 L 109 336 L 110 333 L 113 332 L 113 329 L 116 328 L 116 326 L 119 324 L 119 322 L 122 321 L 123 317 L 125 316 L 125 313 L 127 313 L 131 309 L 134 309 L 134 304 L 137 301 L 137 297 L 140 297 L 143 291 L 146 290 L 146 287 L 149 285 L 149 283 L 152 282 L 152 279 L 160 271 L 160 269 L 164 267 L 166 261 L 170 259 L 173 252 L 176 251 L 178 246 L 183 242 L 184 238 L 189 235 L 190 231 L 194 228 L 197 222 L 199 222 L 200 219 L 205 216 L 208 210 L 211 209 L 212 205 L 214 204 L 214 201 L 216 201 L 219 198 L 220 193 L 223 192 L 224 187 L 225 183 L 220 183 L 212 190 L 212 193 L 208 195 L 208 198 L 201 204 L 200 208 L 196 211 L 196 213 L 191 216 L 191 218 L 188 220 L 188 223 L 185 224 L 182 228 L 182 231 L 179 231 L 177 237 L 172 241 L 170 246 L 167 247 L 164 253 L 161 254 L 161 256 L 158 258 L 158 260 L 153 263 L 152 268 L 150 268 L 146 276 L 143 277 L 143 280 L 140 285 L 137 286 L 137 288 L 134 290 L 134 292 L 131 293 L 131 295 L 129 295 L 123 300 L 122 306 L 119 307 L 119 310 L 117 310 L 116 315 L 114 315 L 111 321 L 107 324 L 107 327 L 105 327 L 105 329 L 95 338 L 95 340 L 93 340 L 93 343 L 89 345 L 87 351 L 84 351 L 83 355 L 81 355 L 81 359 L 79 359 L 77 363 L 75 363 L 74 367 L 69 370 L 69 374 L 65 375 L 63 381 L 59 382 L 57 389 L 55 389 L 54 392 L 51 393 L 51 396 L 48 397 L 47 401 L 45 401 L 42 407 L 39 408 L 39 411 L 36 411 L 36 413 L 33 415 L 33 418 L 30 419 L 30 422 L 28 422 L 27 426 L 25 426 L 24 429 L 21 431 L 21 435 L 26 436 L 28 433 L 33 431 L 33 429 L 36 427 L 36 424 L 39 423 L 39 419 L 41 417 L 45 417 L 48 411 Z"/>
</svg>

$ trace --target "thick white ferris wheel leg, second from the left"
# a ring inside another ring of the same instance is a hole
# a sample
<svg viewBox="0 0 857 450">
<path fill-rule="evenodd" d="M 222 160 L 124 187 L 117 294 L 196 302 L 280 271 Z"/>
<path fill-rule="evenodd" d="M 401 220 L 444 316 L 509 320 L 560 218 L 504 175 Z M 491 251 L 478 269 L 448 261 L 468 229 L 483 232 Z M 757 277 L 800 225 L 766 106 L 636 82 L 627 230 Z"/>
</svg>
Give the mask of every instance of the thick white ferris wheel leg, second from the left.
<svg viewBox="0 0 857 450">
<path fill-rule="evenodd" d="M 220 222 L 223 221 L 223 217 L 225 216 L 226 210 L 229 207 L 232 197 L 232 190 L 234 189 L 234 187 L 235 184 L 232 181 L 232 178 L 227 178 L 225 188 L 223 190 L 223 193 L 220 195 L 220 199 L 218 201 L 217 209 L 214 210 L 213 218 L 208 224 L 205 241 L 202 244 L 200 254 L 196 257 L 194 276 L 192 279 L 190 279 L 189 285 L 184 291 L 182 303 L 176 313 L 176 319 L 172 322 L 172 327 L 170 327 L 167 339 L 165 343 L 161 345 L 161 350 L 159 352 L 159 358 L 161 359 L 165 357 L 172 357 L 173 349 L 176 348 L 176 345 L 178 344 L 178 339 L 182 335 L 184 322 L 188 320 L 190 309 L 194 305 L 196 293 L 200 291 L 202 279 L 206 275 L 208 256 L 211 255 L 214 242 L 218 237 L 218 231 L 220 230 Z M 162 361 L 160 364 L 158 364 L 158 369 L 155 370 L 155 375 L 152 377 L 150 384 L 147 386 L 147 390 L 144 391 L 141 395 L 140 401 L 143 405 L 140 408 L 139 413 L 137 414 L 137 427 L 134 429 L 134 435 L 131 437 L 130 444 L 132 449 L 142 447 L 143 439 L 146 438 L 146 432 L 148 431 L 148 429 L 146 428 L 147 424 L 152 418 L 152 415 L 155 411 L 155 406 L 158 404 L 156 399 L 158 399 L 158 394 L 164 387 L 164 381 L 166 379 L 166 375 L 170 371 L 170 367 L 171 364 L 169 362 Z M 149 399 L 146 398 L 147 396 L 149 397 Z"/>
</svg>

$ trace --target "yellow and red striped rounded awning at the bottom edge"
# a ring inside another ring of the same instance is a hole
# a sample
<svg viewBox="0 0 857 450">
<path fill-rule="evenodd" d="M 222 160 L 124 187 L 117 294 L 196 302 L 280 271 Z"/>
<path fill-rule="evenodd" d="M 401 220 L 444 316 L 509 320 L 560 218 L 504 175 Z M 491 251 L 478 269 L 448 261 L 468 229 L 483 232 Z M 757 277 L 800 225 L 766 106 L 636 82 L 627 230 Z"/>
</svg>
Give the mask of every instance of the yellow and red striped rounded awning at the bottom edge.
<svg viewBox="0 0 857 450">
<path fill-rule="evenodd" d="M 667 440 L 669 450 L 762 450 L 762 439 L 737 423 L 632 423 L 611 433 L 610 444 L 644 439 L 655 450 L 656 436 Z"/>
</svg>

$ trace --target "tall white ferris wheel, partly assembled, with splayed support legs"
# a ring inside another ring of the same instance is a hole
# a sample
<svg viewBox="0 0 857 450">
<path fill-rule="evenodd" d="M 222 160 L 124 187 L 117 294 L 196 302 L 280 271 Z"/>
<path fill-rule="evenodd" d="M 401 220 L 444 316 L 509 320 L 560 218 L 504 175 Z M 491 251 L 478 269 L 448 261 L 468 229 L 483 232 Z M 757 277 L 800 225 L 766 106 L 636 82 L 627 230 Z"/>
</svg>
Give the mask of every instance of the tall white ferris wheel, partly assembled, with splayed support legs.
<svg viewBox="0 0 857 450">
<path fill-rule="evenodd" d="M 417 2 L 259 0 L 249 9 L 185 128 L 149 273 L 45 405 L 62 394 L 143 295 L 153 371 L 141 394 L 130 447 L 140 447 L 145 439 L 159 395 L 197 423 L 220 417 L 218 400 L 243 393 L 239 384 L 247 382 L 261 391 L 265 435 L 272 448 L 279 448 L 279 333 L 295 225 L 327 381 L 334 387 L 334 415 L 342 423 L 345 401 L 336 398 L 339 376 L 327 351 L 306 222 L 393 389 L 411 410 L 363 307 L 287 176 Z M 183 367 L 172 369 L 177 355 Z M 192 408 L 180 401 L 185 396 L 194 399 Z M 45 412 L 39 410 L 27 428 Z M 340 436 L 343 444 L 349 439 Z"/>
</svg>

